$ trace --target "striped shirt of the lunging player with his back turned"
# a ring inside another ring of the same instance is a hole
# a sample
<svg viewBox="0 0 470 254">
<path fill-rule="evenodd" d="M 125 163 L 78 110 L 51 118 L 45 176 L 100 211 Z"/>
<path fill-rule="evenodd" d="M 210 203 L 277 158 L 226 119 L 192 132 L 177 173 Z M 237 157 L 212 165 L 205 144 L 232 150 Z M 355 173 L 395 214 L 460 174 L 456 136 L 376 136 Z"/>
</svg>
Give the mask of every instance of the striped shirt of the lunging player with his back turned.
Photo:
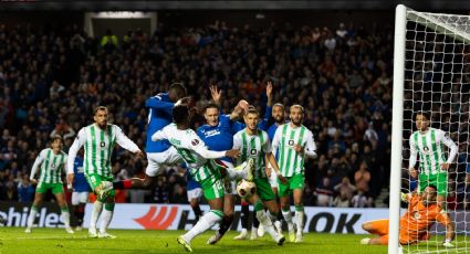
<svg viewBox="0 0 470 254">
<path fill-rule="evenodd" d="M 226 151 L 209 150 L 195 130 L 178 129 L 175 124 L 169 124 L 152 136 L 153 141 L 163 139 L 168 139 L 176 148 L 196 181 L 220 177 L 220 171 L 211 159 L 224 157 Z"/>
</svg>

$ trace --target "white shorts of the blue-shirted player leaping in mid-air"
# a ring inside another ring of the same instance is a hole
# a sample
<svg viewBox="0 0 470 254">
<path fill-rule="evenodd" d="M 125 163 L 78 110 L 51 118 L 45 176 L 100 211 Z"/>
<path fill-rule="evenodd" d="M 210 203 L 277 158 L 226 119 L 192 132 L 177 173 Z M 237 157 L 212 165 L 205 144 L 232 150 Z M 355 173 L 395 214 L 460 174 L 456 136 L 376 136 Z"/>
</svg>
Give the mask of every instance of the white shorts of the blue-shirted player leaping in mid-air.
<svg viewBox="0 0 470 254">
<path fill-rule="evenodd" d="M 147 152 L 147 161 L 148 165 L 145 173 L 149 177 L 155 177 L 166 166 L 179 163 L 181 156 L 178 155 L 175 147 L 170 147 L 161 152 Z"/>
</svg>

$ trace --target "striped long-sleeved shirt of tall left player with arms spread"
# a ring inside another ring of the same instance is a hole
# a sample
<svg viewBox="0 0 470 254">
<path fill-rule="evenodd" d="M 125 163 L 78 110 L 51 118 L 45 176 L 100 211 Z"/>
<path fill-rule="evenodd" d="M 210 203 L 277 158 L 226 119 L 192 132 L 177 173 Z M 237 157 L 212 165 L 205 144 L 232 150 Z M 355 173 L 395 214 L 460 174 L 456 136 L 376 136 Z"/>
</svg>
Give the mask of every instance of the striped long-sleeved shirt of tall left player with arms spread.
<svg viewBox="0 0 470 254">
<path fill-rule="evenodd" d="M 111 155 L 116 142 L 132 152 L 139 150 L 137 145 L 116 125 L 108 124 L 105 129 L 100 128 L 97 124 L 83 127 L 69 150 L 67 172 L 73 173 L 73 161 L 76 152 L 84 146 L 83 168 L 85 176 L 97 173 L 102 177 L 112 178 Z"/>
</svg>

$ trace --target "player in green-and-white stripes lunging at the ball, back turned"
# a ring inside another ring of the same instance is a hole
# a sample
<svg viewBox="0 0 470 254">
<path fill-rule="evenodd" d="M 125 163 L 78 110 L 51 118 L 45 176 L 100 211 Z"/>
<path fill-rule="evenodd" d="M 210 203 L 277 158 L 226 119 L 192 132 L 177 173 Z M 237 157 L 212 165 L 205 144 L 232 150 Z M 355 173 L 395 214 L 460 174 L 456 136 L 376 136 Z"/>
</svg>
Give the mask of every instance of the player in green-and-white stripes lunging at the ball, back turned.
<svg viewBox="0 0 470 254">
<path fill-rule="evenodd" d="M 199 136 L 189 128 L 191 118 L 188 105 L 177 103 L 173 108 L 174 124 L 170 124 L 152 136 L 152 140 L 167 139 L 186 162 L 189 172 L 202 187 L 203 195 L 209 203 L 207 212 L 186 234 L 178 236 L 177 242 L 186 251 L 192 252 L 190 245 L 194 237 L 212 227 L 223 218 L 223 182 L 220 166 L 213 159 L 222 157 L 236 158 L 239 150 L 212 151 L 207 149 Z"/>
</svg>

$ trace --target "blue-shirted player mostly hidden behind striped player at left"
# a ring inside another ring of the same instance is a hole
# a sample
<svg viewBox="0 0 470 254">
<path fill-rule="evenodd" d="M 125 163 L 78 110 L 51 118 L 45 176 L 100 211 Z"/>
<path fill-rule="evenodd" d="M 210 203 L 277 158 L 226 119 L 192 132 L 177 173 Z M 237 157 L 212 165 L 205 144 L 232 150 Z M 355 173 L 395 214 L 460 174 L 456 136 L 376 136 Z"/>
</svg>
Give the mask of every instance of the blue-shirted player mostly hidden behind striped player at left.
<svg viewBox="0 0 470 254">
<path fill-rule="evenodd" d="M 85 178 L 82 155 L 75 157 L 75 161 L 73 162 L 73 173 L 75 174 L 75 178 L 72 184 L 72 205 L 74 215 L 77 221 L 75 230 L 81 231 L 83 225 L 83 218 L 85 216 L 85 205 L 88 202 L 88 194 L 92 191 Z"/>
</svg>

